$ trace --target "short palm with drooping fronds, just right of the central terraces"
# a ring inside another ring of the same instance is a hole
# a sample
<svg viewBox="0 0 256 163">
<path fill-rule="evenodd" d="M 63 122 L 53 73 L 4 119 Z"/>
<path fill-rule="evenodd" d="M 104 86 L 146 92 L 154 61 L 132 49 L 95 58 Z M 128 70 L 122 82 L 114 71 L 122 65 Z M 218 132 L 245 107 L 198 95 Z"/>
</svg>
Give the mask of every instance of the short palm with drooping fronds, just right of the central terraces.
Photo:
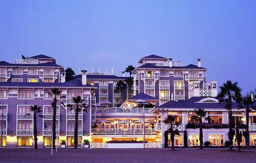
<svg viewBox="0 0 256 163">
<path fill-rule="evenodd" d="M 167 116 L 167 118 L 163 121 L 165 124 L 170 125 L 170 128 L 166 130 L 166 133 L 170 133 L 170 141 L 172 142 L 172 151 L 174 151 L 174 136 L 178 135 L 180 136 L 179 130 L 175 129 L 179 126 L 178 122 L 175 122 L 175 116 Z M 173 125 L 173 123 L 175 124 Z M 168 135 L 168 134 L 166 134 Z"/>
</svg>

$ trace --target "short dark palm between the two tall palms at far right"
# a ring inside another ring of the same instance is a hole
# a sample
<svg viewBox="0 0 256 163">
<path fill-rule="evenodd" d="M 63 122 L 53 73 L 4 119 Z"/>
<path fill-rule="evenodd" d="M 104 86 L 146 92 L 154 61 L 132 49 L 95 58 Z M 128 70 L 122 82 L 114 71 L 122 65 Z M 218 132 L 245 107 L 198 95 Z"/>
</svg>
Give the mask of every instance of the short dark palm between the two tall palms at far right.
<svg viewBox="0 0 256 163">
<path fill-rule="evenodd" d="M 246 136 L 246 125 L 238 121 L 235 125 L 235 140 L 238 147 L 238 152 L 241 153 L 241 142 L 242 142 L 242 136 Z"/>
</svg>

